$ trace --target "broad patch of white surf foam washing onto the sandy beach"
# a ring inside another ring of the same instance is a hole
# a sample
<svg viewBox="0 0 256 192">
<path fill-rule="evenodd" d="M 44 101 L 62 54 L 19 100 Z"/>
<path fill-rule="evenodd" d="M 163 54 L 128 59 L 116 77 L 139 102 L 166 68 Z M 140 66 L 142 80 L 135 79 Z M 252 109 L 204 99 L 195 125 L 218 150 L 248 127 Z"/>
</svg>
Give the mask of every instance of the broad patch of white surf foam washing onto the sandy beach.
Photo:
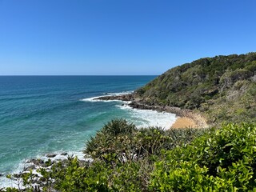
<svg viewBox="0 0 256 192">
<path fill-rule="evenodd" d="M 138 110 L 128 105 L 119 106 L 130 114 L 130 121 L 138 127 L 158 126 L 164 130 L 170 129 L 170 126 L 176 121 L 176 115 L 167 112 L 158 112 L 155 110 Z"/>
</svg>

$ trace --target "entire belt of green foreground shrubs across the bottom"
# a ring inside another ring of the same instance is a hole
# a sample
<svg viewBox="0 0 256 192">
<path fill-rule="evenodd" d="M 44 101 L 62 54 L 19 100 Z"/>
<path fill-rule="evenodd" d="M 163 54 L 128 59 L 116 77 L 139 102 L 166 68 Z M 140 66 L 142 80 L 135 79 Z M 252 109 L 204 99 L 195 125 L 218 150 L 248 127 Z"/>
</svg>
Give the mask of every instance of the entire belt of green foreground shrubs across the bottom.
<svg viewBox="0 0 256 192">
<path fill-rule="evenodd" d="M 42 167 L 38 170 L 45 182 L 42 190 L 256 190 L 256 124 L 163 131 L 135 129 L 133 124 L 115 119 L 87 145 L 86 152 L 94 156 L 94 162 L 69 158 L 55 162 L 50 171 Z M 32 177 L 32 172 L 22 175 L 26 191 L 35 191 Z"/>
</svg>

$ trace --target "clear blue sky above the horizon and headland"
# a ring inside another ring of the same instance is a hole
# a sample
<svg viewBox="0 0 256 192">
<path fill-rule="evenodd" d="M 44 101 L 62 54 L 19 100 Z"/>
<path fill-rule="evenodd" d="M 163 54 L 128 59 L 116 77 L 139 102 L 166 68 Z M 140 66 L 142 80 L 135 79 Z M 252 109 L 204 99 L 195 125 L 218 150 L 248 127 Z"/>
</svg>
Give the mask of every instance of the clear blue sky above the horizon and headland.
<svg viewBox="0 0 256 192">
<path fill-rule="evenodd" d="M 0 74 L 162 74 L 256 51 L 255 0 L 0 0 Z"/>
</svg>

